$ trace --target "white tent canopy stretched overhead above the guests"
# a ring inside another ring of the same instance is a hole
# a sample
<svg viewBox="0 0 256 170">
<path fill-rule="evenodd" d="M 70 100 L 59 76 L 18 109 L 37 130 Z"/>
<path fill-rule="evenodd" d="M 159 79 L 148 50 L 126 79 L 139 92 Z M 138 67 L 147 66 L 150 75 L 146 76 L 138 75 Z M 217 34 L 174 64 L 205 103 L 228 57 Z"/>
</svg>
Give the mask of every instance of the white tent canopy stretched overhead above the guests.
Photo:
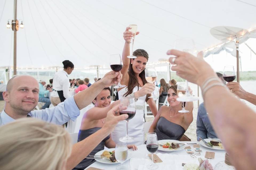
<svg viewBox="0 0 256 170">
<path fill-rule="evenodd" d="M 17 67 L 109 66 L 109 55 L 122 53 L 123 32 L 137 24 L 134 49 L 149 53 L 149 62 L 167 58 L 166 51 L 181 37 L 194 39 L 198 50 L 222 42 L 210 34 L 215 26 L 256 28 L 254 0 L 103 1 L 18 0 Z M 13 66 L 13 1 L 0 0 L 0 67 Z"/>
</svg>

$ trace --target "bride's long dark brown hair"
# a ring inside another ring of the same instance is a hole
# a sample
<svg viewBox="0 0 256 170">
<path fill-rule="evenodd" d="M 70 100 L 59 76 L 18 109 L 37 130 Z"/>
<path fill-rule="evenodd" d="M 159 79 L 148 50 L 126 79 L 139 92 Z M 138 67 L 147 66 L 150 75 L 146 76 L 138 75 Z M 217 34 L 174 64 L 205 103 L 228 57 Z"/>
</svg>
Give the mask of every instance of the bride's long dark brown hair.
<svg viewBox="0 0 256 170">
<path fill-rule="evenodd" d="M 149 60 L 149 54 L 143 50 L 143 49 L 137 49 L 133 52 L 133 55 L 136 57 L 145 57 L 147 59 L 147 61 Z M 128 82 L 128 86 L 126 87 L 128 90 L 127 92 L 124 94 L 124 96 L 128 96 L 129 94 L 133 93 L 133 89 L 135 86 L 138 86 L 138 90 L 139 90 L 139 81 L 133 71 L 133 65 L 131 64 L 131 60 L 134 60 L 133 58 L 130 59 L 130 64 L 129 64 L 129 70 L 128 70 L 128 75 L 129 75 L 129 82 Z M 145 78 L 145 69 L 142 70 L 141 73 L 139 73 L 139 77 L 142 79 L 143 85 L 148 83 L 146 78 Z M 146 101 L 149 100 L 150 94 L 147 94 L 147 98 Z"/>
</svg>

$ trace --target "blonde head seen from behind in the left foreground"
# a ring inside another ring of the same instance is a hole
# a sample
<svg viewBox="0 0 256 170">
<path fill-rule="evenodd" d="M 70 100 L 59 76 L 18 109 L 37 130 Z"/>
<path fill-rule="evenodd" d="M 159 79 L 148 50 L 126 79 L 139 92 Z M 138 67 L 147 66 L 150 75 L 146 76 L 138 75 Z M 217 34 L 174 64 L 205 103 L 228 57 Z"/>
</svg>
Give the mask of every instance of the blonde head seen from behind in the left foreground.
<svg viewBox="0 0 256 170">
<path fill-rule="evenodd" d="M 70 136 L 61 126 L 21 118 L 0 127 L 0 169 L 62 170 L 70 154 Z"/>
</svg>

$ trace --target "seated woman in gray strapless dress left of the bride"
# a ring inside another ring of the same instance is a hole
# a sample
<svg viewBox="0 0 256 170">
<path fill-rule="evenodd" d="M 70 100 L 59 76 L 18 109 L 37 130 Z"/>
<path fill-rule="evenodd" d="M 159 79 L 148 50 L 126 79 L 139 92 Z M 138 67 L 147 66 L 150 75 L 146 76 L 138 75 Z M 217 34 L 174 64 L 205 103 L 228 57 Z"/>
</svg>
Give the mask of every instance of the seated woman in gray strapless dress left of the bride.
<svg viewBox="0 0 256 170">
<path fill-rule="evenodd" d="M 82 141 L 101 129 L 106 121 L 107 112 L 110 111 L 110 109 L 112 109 L 114 106 L 118 105 L 120 101 L 115 101 L 112 104 L 110 103 L 110 88 L 107 87 L 104 88 L 93 100 L 94 108 L 91 108 L 84 114 L 78 133 L 77 142 Z M 91 151 L 90 155 L 95 155 L 98 151 L 104 150 L 104 146 L 107 148 L 115 148 L 115 142 L 111 139 L 110 135 L 103 139 L 103 141 L 101 141 L 101 143 L 99 143 L 99 145 L 95 147 L 93 151 Z M 137 150 L 135 145 L 127 145 L 127 147 Z M 73 170 L 83 170 L 94 162 L 94 159 L 85 158 L 75 168 L 73 168 Z"/>
</svg>

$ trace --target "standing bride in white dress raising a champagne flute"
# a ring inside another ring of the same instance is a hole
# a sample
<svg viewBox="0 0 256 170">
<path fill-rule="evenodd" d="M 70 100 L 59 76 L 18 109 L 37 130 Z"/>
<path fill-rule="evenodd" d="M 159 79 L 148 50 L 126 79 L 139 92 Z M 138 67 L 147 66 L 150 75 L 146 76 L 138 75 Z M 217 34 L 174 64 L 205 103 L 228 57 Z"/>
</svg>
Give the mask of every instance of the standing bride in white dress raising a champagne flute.
<svg viewBox="0 0 256 170">
<path fill-rule="evenodd" d="M 131 27 L 127 27 L 123 33 L 125 39 L 125 45 L 122 53 L 123 68 L 121 73 L 123 78 L 121 84 L 126 85 L 122 89 L 118 89 L 119 100 L 122 97 L 130 96 L 134 97 L 136 105 L 135 116 L 129 120 L 128 135 L 133 137 L 135 141 L 130 142 L 135 145 L 144 144 L 144 108 L 145 101 L 149 104 L 150 110 L 154 116 L 157 114 L 157 107 L 153 98 L 148 98 L 151 92 L 155 89 L 155 85 L 148 83 L 145 78 L 145 67 L 149 59 L 149 55 L 143 49 L 137 49 L 133 52 L 137 58 L 130 59 L 130 43 L 133 33 L 129 31 Z M 139 32 L 136 33 L 136 35 Z M 145 132 L 147 133 L 147 132 Z M 126 135 L 126 121 L 121 121 L 115 127 L 115 130 L 111 133 L 112 140 L 115 143 L 119 143 L 119 138 Z M 129 143 L 129 144 L 130 144 Z"/>
</svg>

